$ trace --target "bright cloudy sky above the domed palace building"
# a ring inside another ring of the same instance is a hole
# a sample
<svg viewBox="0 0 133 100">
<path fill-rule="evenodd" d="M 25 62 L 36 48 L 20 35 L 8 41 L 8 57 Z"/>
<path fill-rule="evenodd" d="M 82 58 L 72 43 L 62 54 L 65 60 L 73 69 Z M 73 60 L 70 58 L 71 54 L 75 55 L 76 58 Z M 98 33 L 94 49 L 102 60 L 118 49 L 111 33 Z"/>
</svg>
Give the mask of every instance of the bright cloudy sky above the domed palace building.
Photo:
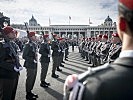
<svg viewBox="0 0 133 100">
<path fill-rule="evenodd" d="M 11 24 L 29 22 L 32 15 L 41 26 L 89 25 L 104 23 L 109 15 L 117 22 L 118 0 L 0 0 L 0 12 L 10 17 Z"/>
</svg>

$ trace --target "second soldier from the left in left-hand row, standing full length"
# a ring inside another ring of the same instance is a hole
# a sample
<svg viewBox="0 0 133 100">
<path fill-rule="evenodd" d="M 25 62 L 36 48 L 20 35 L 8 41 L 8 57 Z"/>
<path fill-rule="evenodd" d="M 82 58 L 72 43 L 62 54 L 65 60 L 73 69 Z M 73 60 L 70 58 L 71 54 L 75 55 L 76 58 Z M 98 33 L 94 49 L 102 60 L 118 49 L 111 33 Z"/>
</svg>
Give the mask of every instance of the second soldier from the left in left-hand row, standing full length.
<svg viewBox="0 0 133 100">
<path fill-rule="evenodd" d="M 29 42 L 25 44 L 23 51 L 24 67 L 27 70 L 26 99 L 36 99 L 37 94 L 32 93 L 37 75 L 37 45 L 35 32 L 29 32 Z"/>
</svg>

